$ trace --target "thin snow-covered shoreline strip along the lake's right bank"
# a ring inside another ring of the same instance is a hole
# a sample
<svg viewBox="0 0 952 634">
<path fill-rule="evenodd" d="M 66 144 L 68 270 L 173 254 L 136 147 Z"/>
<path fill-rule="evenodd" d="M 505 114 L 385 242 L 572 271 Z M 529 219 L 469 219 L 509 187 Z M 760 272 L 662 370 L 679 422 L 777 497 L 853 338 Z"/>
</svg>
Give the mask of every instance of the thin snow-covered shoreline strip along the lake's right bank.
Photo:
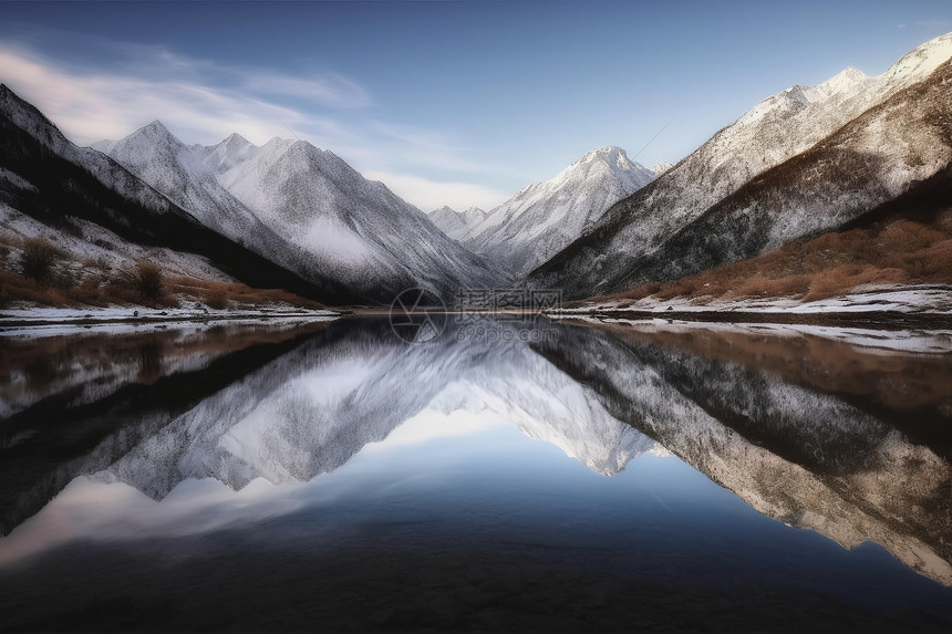
<svg viewBox="0 0 952 634">
<path fill-rule="evenodd" d="M 653 297 L 632 301 L 617 299 L 589 302 L 581 306 L 560 308 L 546 311 L 551 318 L 569 318 L 590 313 L 651 312 L 665 313 L 765 313 L 765 314 L 831 314 L 894 312 L 897 314 L 948 314 L 952 316 L 952 285 L 891 285 L 858 287 L 852 292 L 805 302 L 794 298 L 673 298 L 659 300 Z"/>
</svg>

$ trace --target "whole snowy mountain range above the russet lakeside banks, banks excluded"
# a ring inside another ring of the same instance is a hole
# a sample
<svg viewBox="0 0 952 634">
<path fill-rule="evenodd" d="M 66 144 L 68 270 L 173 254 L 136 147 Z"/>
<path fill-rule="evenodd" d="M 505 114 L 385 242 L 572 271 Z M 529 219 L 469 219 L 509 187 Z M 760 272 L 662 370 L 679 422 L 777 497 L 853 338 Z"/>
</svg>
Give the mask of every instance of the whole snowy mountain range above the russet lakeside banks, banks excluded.
<svg viewBox="0 0 952 634">
<path fill-rule="evenodd" d="M 428 215 L 301 141 L 187 145 L 153 122 L 76 147 L 3 86 L 0 239 L 15 250 L 17 236 L 44 235 L 77 260 L 152 253 L 335 305 L 412 287 L 446 303 L 522 284 L 618 293 L 853 226 L 925 189 L 948 198 L 950 56 L 952 34 L 879 76 L 847 69 L 795 85 L 673 166 L 609 146 L 489 211 Z"/>
</svg>

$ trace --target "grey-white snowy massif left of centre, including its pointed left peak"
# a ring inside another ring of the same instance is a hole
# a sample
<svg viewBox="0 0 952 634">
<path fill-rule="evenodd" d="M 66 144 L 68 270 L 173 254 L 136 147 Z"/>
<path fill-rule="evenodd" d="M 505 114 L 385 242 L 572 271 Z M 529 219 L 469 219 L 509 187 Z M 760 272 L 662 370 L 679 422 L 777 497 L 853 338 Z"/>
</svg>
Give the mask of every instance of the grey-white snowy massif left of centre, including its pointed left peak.
<svg viewBox="0 0 952 634">
<path fill-rule="evenodd" d="M 449 302 L 459 289 L 499 283 L 418 209 L 307 142 L 258 147 L 232 134 L 186 146 L 155 122 L 99 147 L 209 227 L 335 297 L 386 303 L 421 287 Z"/>
</svg>

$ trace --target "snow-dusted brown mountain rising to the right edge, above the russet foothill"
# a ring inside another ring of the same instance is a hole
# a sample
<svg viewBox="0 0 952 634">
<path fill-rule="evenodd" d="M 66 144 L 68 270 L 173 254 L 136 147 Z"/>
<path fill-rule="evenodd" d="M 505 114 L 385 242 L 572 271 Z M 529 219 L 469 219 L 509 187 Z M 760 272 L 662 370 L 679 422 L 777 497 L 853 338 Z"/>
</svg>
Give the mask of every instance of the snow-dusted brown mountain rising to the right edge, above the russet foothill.
<svg viewBox="0 0 952 634">
<path fill-rule="evenodd" d="M 535 271 L 569 298 L 744 259 L 839 227 L 949 165 L 952 33 L 754 106 Z M 847 125 L 848 124 L 848 125 Z"/>
</svg>

